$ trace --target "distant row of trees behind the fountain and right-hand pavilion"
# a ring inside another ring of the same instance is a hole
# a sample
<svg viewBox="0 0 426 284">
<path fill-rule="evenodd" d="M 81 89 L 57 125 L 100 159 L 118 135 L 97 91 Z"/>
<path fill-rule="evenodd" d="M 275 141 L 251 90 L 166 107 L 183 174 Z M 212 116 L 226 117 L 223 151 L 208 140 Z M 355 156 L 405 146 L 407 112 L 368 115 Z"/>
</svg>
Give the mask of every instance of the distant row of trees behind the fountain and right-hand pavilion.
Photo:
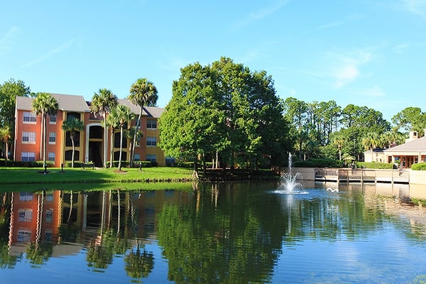
<svg viewBox="0 0 426 284">
<path fill-rule="evenodd" d="M 364 151 L 399 145 L 409 131 L 423 136 L 426 128 L 426 114 L 418 107 L 403 109 L 389 122 L 380 111 L 354 104 L 342 108 L 334 101 L 308 103 L 293 97 L 283 104 L 300 160 L 362 160 Z"/>
</svg>

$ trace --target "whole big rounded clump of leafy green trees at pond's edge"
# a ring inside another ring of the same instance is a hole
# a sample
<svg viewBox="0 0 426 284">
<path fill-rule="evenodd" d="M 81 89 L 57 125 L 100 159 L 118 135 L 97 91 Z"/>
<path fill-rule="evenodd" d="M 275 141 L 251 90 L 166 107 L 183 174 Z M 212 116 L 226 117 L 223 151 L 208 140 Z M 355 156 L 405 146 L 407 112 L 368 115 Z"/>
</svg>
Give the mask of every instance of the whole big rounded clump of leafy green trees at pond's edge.
<svg viewBox="0 0 426 284">
<path fill-rule="evenodd" d="M 224 165 L 256 168 L 285 153 L 283 107 L 266 72 L 221 58 L 182 68 L 160 118 L 160 147 L 168 156 L 221 158 Z M 218 155 L 216 155 L 218 153 Z"/>
</svg>

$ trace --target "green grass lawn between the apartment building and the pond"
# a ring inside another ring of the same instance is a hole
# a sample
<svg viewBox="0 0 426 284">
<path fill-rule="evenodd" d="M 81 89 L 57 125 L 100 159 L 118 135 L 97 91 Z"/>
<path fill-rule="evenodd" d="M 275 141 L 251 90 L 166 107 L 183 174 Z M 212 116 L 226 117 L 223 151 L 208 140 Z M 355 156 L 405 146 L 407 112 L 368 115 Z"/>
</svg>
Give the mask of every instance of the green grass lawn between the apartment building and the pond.
<svg viewBox="0 0 426 284">
<path fill-rule="evenodd" d="M 0 188 L 2 185 L 11 184 L 44 184 L 44 183 L 104 183 L 104 182 L 176 182 L 180 180 L 192 180 L 192 169 L 188 168 L 122 168 L 118 172 L 116 168 L 86 169 L 48 168 L 44 173 L 41 168 L 1 168 Z"/>
</svg>

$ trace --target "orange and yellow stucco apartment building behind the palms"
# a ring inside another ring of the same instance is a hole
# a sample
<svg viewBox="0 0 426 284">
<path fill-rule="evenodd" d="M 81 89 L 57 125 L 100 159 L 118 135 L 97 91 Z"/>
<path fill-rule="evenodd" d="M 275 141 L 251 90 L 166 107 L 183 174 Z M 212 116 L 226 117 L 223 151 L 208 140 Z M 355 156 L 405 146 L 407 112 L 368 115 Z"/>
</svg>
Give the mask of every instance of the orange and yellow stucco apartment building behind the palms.
<svg viewBox="0 0 426 284">
<path fill-rule="evenodd" d="M 114 143 L 113 159 L 119 160 L 120 132 L 114 131 L 114 140 L 111 141 L 111 132 L 107 131 L 104 137 L 104 126 L 101 116 L 90 113 L 89 102 L 79 95 L 51 94 L 58 101 L 58 113 L 47 118 L 47 143 L 46 160 L 50 160 L 55 167 L 70 162 L 72 159 L 72 143 L 70 135 L 62 130 L 62 122 L 74 116 L 84 122 L 84 130 L 77 132 L 75 137 L 75 161 L 87 163 L 92 161 L 94 165 L 104 165 L 104 152 L 107 161 L 111 159 L 111 142 Z M 29 97 L 16 97 L 16 126 L 15 126 L 15 160 L 35 161 L 43 160 L 42 119 L 32 111 L 33 99 Z M 136 119 L 140 107 L 132 104 L 127 99 L 119 99 L 119 104 L 125 104 L 135 114 Z M 163 113 L 163 108 L 144 107 L 141 117 L 141 131 L 143 137 L 139 139 L 135 147 L 135 161 L 151 160 L 160 166 L 166 165 L 163 151 L 157 146 L 159 141 L 158 119 Z M 130 121 L 134 126 L 135 119 Z M 104 149 L 104 139 L 107 139 L 107 149 Z M 124 140 L 121 160 L 130 159 L 129 141 Z M 173 159 L 168 163 L 173 163 Z"/>
</svg>

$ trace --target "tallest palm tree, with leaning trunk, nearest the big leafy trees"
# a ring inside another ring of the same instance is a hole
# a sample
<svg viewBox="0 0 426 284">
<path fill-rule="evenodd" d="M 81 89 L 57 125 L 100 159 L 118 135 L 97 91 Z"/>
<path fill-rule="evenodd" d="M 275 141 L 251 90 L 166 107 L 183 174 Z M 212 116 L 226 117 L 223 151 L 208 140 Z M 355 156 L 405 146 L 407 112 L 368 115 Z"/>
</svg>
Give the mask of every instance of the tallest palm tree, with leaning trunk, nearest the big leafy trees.
<svg viewBox="0 0 426 284">
<path fill-rule="evenodd" d="M 131 85 L 130 94 L 127 99 L 129 99 L 133 104 L 136 104 L 137 106 L 141 107 L 141 109 L 139 110 L 138 121 L 136 121 L 136 131 L 133 135 L 133 148 L 131 151 L 132 154 L 130 159 L 131 164 L 133 163 L 133 155 L 135 152 L 136 133 L 141 128 L 141 116 L 143 107 L 145 107 L 146 105 L 148 107 L 155 106 L 158 99 L 157 93 L 157 88 L 155 87 L 153 82 L 148 81 L 146 78 L 138 79 Z"/>
</svg>

